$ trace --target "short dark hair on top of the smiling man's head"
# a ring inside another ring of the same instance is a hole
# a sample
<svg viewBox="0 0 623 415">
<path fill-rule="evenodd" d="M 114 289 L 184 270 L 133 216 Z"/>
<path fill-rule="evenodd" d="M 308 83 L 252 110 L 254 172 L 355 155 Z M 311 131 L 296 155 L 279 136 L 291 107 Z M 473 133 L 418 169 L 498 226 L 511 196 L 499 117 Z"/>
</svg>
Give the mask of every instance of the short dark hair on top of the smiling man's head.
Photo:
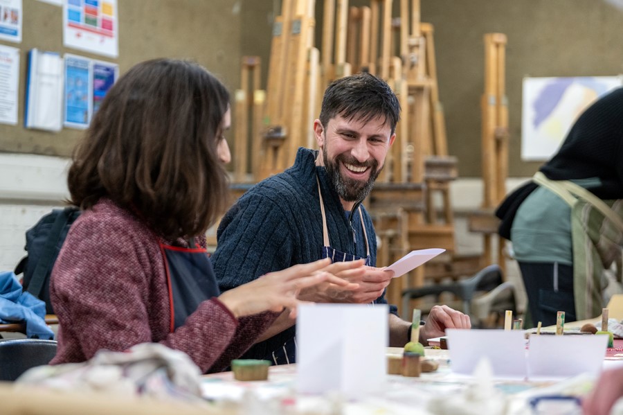
<svg viewBox="0 0 623 415">
<path fill-rule="evenodd" d="M 400 103 L 387 82 L 362 72 L 335 80 L 327 87 L 320 123 L 326 127 L 329 119 L 338 115 L 361 121 L 382 116 L 394 134 L 400 119 Z"/>
</svg>

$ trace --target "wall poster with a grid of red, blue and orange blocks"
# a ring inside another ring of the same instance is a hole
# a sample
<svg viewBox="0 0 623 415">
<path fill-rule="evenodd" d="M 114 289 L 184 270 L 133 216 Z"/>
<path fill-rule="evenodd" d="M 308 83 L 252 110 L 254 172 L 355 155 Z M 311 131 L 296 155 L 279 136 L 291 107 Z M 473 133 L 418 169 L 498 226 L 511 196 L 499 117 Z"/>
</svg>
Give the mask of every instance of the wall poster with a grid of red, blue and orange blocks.
<svg viewBox="0 0 623 415">
<path fill-rule="evenodd" d="M 63 44 L 116 58 L 119 54 L 117 0 L 64 0 Z"/>
</svg>

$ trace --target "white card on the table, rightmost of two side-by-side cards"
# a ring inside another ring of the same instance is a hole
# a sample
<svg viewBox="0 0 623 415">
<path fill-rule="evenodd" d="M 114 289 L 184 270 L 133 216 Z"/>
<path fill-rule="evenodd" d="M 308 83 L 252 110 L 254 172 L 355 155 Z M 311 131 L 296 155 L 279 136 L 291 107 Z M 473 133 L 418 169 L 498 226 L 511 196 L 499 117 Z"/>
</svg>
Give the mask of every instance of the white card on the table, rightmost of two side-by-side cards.
<svg viewBox="0 0 623 415">
<path fill-rule="evenodd" d="M 602 369 L 608 336 L 531 335 L 527 357 L 530 379 L 560 378 Z"/>
</svg>

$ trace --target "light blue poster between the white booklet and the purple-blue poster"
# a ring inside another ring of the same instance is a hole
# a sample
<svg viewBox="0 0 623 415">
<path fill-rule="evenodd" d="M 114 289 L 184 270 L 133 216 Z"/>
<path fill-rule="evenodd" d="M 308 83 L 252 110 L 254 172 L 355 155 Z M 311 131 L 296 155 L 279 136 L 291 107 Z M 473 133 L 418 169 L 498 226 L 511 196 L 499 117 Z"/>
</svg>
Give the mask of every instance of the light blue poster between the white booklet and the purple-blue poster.
<svg viewBox="0 0 623 415">
<path fill-rule="evenodd" d="M 91 60 L 65 55 L 65 127 L 84 129 L 91 121 Z"/>
</svg>

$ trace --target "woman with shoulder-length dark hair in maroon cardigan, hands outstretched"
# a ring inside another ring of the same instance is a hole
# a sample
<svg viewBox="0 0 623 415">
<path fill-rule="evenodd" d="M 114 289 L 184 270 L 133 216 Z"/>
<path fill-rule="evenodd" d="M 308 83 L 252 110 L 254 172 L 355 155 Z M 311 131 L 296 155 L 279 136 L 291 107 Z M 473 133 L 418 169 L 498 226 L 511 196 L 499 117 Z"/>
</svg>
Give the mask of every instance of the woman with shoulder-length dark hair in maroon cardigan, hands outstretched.
<svg viewBox="0 0 623 415">
<path fill-rule="evenodd" d="M 83 213 L 51 277 L 60 321 L 53 364 L 159 342 L 202 371 L 240 356 L 301 288 L 334 283 L 361 263 L 316 261 L 221 294 L 205 233 L 226 205 L 229 94 L 198 64 L 150 60 L 111 88 L 69 169 Z"/>
</svg>

